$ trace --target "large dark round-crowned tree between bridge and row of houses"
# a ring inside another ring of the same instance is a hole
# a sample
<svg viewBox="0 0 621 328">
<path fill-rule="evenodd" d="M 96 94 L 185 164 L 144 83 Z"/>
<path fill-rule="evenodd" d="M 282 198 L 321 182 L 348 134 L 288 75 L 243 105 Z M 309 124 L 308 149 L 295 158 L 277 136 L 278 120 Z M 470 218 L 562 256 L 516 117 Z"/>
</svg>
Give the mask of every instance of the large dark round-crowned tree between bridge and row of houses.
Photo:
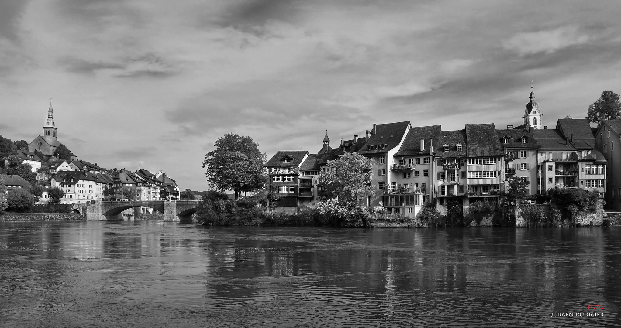
<svg viewBox="0 0 621 328">
<path fill-rule="evenodd" d="M 205 155 L 207 182 L 217 191 L 233 190 L 235 198 L 252 192 L 265 182 L 265 153 L 252 138 L 228 133 L 215 141 L 215 149 Z"/>
</svg>

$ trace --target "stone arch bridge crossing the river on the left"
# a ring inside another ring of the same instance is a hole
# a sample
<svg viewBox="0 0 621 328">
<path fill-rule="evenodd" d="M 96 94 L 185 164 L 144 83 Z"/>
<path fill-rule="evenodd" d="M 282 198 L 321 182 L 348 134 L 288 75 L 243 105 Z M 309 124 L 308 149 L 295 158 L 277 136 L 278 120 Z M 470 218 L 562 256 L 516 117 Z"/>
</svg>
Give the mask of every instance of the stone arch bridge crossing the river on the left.
<svg viewBox="0 0 621 328">
<path fill-rule="evenodd" d="M 81 213 L 89 221 L 120 221 L 122 211 L 144 206 L 164 214 L 164 221 L 192 221 L 200 200 L 145 200 L 135 202 L 97 202 L 82 205 Z"/>
</svg>

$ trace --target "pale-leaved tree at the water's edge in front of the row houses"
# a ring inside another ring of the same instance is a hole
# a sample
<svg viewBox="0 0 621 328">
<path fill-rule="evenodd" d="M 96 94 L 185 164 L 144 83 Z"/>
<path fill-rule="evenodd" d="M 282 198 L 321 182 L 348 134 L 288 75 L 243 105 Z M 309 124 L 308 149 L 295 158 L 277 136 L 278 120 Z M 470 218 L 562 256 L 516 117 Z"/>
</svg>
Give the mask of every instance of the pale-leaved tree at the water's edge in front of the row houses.
<svg viewBox="0 0 621 328">
<path fill-rule="evenodd" d="M 347 153 L 328 161 L 329 171 L 319 177 L 327 187 L 332 200 L 320 202 L 318 213 L 337 218 L 338 223 L 360 226 L 368 210 L 362 206 L 365 198 L 374 190 L 373 166 L 375 161 L 358 153 Z"/>
</svg>

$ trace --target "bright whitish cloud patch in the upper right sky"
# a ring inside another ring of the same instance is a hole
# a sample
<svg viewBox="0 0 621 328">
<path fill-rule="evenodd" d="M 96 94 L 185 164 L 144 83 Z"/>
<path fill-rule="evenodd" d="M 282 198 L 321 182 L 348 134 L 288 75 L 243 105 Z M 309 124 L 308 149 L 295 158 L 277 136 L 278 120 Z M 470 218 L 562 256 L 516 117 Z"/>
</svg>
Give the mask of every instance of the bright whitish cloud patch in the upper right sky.
<svg viewBox="0 0 621 328">
<path fill-rule="evenodd" d="M 559 27 L 555 30 L 517 33 L 502 41 L 502 47 L 521 56 L 535 53 L 553 53 L 563 48 L 589 42 L 589 35 L 576 25 Z"/>
</svg>

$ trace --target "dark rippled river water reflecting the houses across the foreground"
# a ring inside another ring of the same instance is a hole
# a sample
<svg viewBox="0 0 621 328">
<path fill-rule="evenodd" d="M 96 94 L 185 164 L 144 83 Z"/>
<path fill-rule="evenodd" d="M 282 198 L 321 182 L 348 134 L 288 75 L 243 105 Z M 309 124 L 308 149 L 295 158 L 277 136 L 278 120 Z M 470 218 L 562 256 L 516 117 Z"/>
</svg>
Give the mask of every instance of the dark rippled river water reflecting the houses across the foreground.
<svg viewBox="0 0 621 328">
<path fill-rule="evenodd" d="M 0 223 L 2 327 L 621 327 L 620 307 L 621 227 Z"/>
</svg>

